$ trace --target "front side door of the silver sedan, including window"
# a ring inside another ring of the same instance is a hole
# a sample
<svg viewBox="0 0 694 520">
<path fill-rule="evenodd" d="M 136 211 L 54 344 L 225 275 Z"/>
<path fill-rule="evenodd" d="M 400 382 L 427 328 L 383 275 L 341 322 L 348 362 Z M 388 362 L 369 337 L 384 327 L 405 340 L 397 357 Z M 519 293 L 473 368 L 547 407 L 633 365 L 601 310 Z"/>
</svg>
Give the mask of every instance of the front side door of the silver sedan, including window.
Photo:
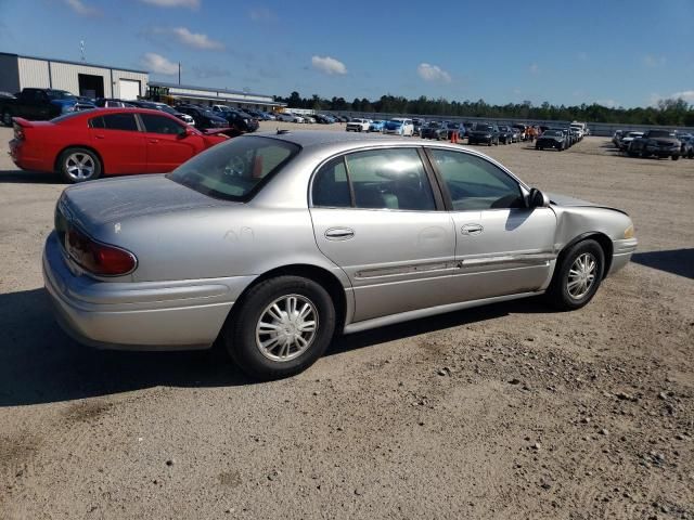
<svg viewBox="0 0 694 520">
<path fill-rule="evenodd" d="M 477 300 L 545 288 L 556 258 L 554 211 L 528 208 L 518 181 L 486 158 L 435 147 L 427 152 L 455 226 L 461 271 L 451 290 Z"/>
</svg>

